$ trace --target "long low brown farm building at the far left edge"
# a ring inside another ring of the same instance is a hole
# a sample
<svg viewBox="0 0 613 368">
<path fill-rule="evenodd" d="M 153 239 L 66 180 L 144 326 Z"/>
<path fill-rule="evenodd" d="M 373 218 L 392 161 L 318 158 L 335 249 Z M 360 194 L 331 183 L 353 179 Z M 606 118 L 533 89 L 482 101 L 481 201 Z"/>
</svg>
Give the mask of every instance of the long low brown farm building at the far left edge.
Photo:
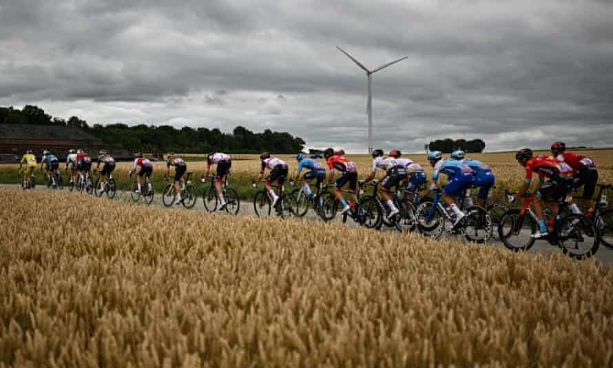
<svg viewBox="0 0 613 368">
<path fill-rule="evenodd" d="M 83 149 L 92 156 L 104 148 L 119 155 L 126 155 L 121 147 L 105 147 L 95 136 L 77 127 L 32 124 L 0 124 L 0 154 L 20 156 L 26 150 L 41 156 L 43 150 L 50 150 L 60 159 L 65 158 L 67 150 Z"/>
</svg>

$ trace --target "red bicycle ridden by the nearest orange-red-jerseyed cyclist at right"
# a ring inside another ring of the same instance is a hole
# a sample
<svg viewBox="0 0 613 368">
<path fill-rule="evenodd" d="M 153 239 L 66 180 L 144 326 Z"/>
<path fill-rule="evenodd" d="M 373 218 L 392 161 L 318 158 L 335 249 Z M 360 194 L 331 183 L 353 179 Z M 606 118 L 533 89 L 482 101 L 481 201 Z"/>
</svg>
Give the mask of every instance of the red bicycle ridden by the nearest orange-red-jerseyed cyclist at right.
<svg viewBox="0 0 613 368">
<path fill-rule="evenodd" d="M 510 202 L 516 192 L 507 192 Z M 534 238 L 538 230 L 537 215 L 530 208 L 534 197 L 528 192 L 524 194 L 521 209 L 509 209 L 504 214 L 498 225 L 498 234 L 505 247 L 512 251 L 527 251 L 537 240 Z M 566 196 L 561 201 L 560 213 L 562 218 L 555 216 L 552 221 L 550 234 L 541 239 L 548 241 L 550 245 L 560 247 L 563 254 L 571 258 L 583 259 L 596 254 L 599 246 L 599 234 L 590 218 L 583 214 L 573 214 L 568 211 L 568 204 L 572 196 Z M 549 226 L 548 226 L 549 227 Z M 525 239 L 524 239 L 525 238 Z"/>
</svg>

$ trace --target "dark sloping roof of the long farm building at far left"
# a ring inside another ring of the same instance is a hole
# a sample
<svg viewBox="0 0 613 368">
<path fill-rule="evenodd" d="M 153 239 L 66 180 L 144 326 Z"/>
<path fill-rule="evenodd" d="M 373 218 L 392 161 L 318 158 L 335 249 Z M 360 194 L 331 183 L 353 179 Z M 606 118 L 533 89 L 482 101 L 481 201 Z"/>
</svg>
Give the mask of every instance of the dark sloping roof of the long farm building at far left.
<svg viewBox="0 0 613 368">
<path fill-rule="evenodd" d="M 0 124 L 0 138 L 98 141 L 95 136 L 78 127 L 32 124 Z"/>
</svg>

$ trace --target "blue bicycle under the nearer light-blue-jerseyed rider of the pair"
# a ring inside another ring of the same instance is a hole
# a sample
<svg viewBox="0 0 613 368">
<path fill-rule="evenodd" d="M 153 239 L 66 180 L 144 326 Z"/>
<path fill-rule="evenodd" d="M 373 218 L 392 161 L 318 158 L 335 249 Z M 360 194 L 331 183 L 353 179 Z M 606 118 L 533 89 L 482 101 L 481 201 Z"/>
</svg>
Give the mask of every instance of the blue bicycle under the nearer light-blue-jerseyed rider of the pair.
<svg viewBox="0 0 613 368">
<path fill-rule="evenodd" d="M 466 209 L 466 216 L 456 222 L 455 214 L 450 214 L 449 209 L 441 202 L 441 189 L 433 190 L 434 199 L 424 200 L 417 206 L 417 229 L 419 232 L 431 238 L 440 238 L 445 229 L 445 221 L 450 221 L 452 226 L 448 229 L 451 234 L 464 234 L 468 241 L 474 243 L 486 243 L 492 237 L 494 225 L 488 212 L 479 206 L 471 206 Z M 459 196 L 459 207 L 464 206 L 464 193 Z"/>
</svg>

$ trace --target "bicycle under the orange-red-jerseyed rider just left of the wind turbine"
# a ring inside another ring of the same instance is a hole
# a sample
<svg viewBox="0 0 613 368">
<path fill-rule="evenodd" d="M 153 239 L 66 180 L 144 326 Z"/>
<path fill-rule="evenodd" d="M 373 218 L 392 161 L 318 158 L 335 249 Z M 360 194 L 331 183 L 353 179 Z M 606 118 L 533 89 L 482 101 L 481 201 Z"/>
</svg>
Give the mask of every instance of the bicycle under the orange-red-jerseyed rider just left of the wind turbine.
<svg viewBox="0 0 613 368">
<path fill-rule="evenodd" d="M 356 223 L 368 229 L 375 229 L 377 224 L 382 221 L 381 216 L 383 216 L 383 212 L 377 201 L 375 201 L 375 198 L 372 198 L 372 196 L 364 196 L 360 198 L 360 196 L 364 194 L 363 188 L 366 185 L 368 185 L 368 183 L 358 181 L 358 190 L 356 193 L 357 202 L 347 201 L 350 209 L 344 212 L 342 222 L 346 223 L 347 218 L 351 217 Z M 355 193 L 353 190 L 345 188 L 339 189 L 344 193 Z M 336 216 L 336 213 L 340 211 L 340 207 L 340 201 L 335 196 L 331 196 L 323 203 L 320 216 L 324 221 L 331 221 Z"/>
</svg>

